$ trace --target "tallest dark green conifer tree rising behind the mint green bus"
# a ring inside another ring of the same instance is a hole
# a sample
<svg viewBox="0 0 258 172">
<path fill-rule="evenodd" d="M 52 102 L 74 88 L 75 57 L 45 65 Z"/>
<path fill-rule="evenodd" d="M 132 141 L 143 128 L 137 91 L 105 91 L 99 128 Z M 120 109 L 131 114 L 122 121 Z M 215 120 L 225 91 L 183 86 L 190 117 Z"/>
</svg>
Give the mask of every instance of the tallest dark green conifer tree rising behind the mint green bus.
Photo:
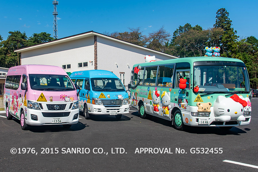
<svg viewBox="0 0 258 172">
<path fill-rule="evenodd" d="M 236 30 L 232 26 L 232 20 L 229 18 L 229 13 L 225 8 L 220 8 L 216 12 L 216 22 L 214 24 L 215 28 L 222 28 L 224 33 L 220 38 L 220 56 L 232 57 L 232 53 L 236 49 L 236 41 L 238 36 L 236 36 Z"/>
</svg>

